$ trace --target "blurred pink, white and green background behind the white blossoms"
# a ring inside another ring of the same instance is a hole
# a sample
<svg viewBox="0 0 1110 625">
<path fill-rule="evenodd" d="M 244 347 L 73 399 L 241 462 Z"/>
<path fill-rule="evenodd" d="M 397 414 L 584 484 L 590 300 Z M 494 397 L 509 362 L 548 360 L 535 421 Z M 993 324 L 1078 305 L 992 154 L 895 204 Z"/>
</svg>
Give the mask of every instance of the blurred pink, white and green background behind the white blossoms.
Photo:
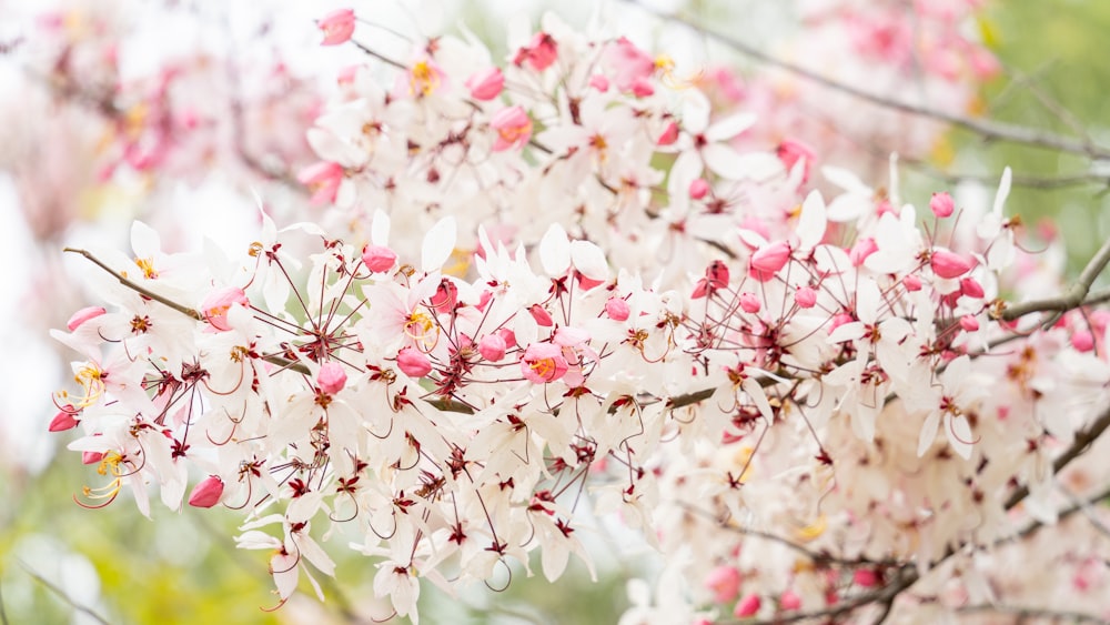
<svg viewBox="0 0 1110 625">
<path fill-rule="evenodd" d="M 880 4 L 922 11 L 908 0 Z M 1110 144 L 1103 93 L 1110 84 L 1110 3 L 981 0 L 970 2 L 970 12 L 967 1 L 939 4 L 967 13 L 957 24 L 961 37 L 989 51 L 991 58 L 981 61 L 993 64 L 979 73 L 957 72 L 949 82 L 959 90 L 947 92 L 956 93 L 955 100 L 927 104 L 1041 129 L 1079 144 Z M 369 592 L 374 568 L 339 548 L 332 555 L 342 586 L 325 586 L 327 602 L 320 604 L 310 593 L 276 613 L 261 611 L 274 603 L 272 581 L 264 554 L 233 547 L 241 513 L 188 507 L 178 513 L 155 505 L 149 521 L 129 501 L 83 510 L 72 496 L 94 483 L 93 467 L 65 451 L 71 436 L 47 432 L 56 412 L 52 393 L 69 383 L 74 357 L 48 330 L 64 327 L 69 315 L 90 301 L 81 285 L 88 268 L 63 259 L 62 246 L 127 248 L 129 224 L 142 219 L 163 233 L 168 250 L 194 248 L 205 236 L 239 249 L 256 229 L 255 198 L 280 221 L 313 219 L 307 194 L 295 181 L 297 170 L 315 160 L 304 130 L 333 91 L 337 70 L 367 60 L 350 46 L 319 46 L 314 20 L 344 6 L 0 1 L 0 266 L 6 268 L 0 341 L 7 346 L 7 357 L 0 359 L 2 623 L 357 623 L 387 615 Z M 842 17 L 829 11 L 855 11 L 864 23 L 872 10 L 867 2 L 831 0 L 351 6 L 373 13 L 374 27 L 360 30 L 356 39 L 375 50 L 468 31 L 486 42 L 494 59 L 509 54 L 511 14 L 534 27 L 551 9 L 584 30 L 593 19 L 604 32 L 625 33 L 645 49 L 667 52 L 689 74 L 718 75 L 713 72 L 727 68 L 740 82 L 739 94 L 728 95 L 719 77 L 727 74 L 719 74 L 715 85 L 740 108 L 756 107 L 758 85 L 766 84 L 760 81 L 787 83 L 766 78 L 774 67 L 654 12 L 676 12 L 775 58 L 807 64 L 821 53 L 810 48 L 814 32 L 827 39 L 823 44 L 829 49 L 850 48 L 836 39 L 848 38 L 848 29 L 825 28 Z M 912 39 L 914 32 L 890 37 Z M 866 80 L 867 54 L 849 52 L 860 57 L 854 60 L 860 71 L 838 79 Z M 910 80 L 904 84 L 915 88 Z M 836 118 L 867 115 L 864 109 L 806 114 L 813 119 L 781 123 L 869 123 Z M 774 149 L 786 138 L 754 141 Z M 932 191 L 947 189 L 968 201 L 990 196 L 1002 168 L 1010 165 L 1016 190 L 1007 211 L 1020 214 L 1042 241 L 1062 238 L 1072 271 L 1110 232 L 1106 160 L 959 128 L 938 129 L 924 144 L 884 141 L 882 133 L 829 138 L 821 158 L 824 164 L 870 175 L 865 182 L 878 188 L 887 182 L 887 154 L 898 149 L 901 195 L 919 206 Z M 628 605 L 626 581 L 649 577 L 653 561 L 604 528 L 591 541 L 601 564 L 596 584 L 579 567 L 555 586 L 516 574 L 503 592 L 477 587 L 454 598 L 425 585 L 422 617 L 427 623 L 615 623 Z"/>
</svg>

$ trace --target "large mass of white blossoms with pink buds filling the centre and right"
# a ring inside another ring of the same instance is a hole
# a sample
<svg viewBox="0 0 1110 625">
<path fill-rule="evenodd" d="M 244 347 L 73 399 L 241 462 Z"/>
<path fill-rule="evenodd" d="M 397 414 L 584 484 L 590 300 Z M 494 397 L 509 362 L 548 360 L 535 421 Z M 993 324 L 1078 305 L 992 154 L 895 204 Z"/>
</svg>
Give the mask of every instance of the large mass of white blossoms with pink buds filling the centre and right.
<svg viewBox="0 0 1110 625">
<path fill-rule="evenodd" d="M 263 213 L 230 258 L 143 224 L 132 256 L 83 252 L 104 305 L 54 334 L 83 360 L 51 424 L 103 476 L 78 502 L 243 510 L 281 603 L 353 535 L 414 621 L 421 578 L 589 564 L 586 501 L 705 579 L 635 586 L 628 623 L 1033 596 L 1010 564 L 1101 486 L 1072 460 L 1110 424 L 1108 315 L 1007 303 L 1061 289 L 1009 172 L 989 210 L 919 213 L 895 160 L 876 190 L 743 147 L 756 115 L 627 39 L 546 18 L 511 43 L 344 71 L 300 175 L 321 224 Z M 1038 554 L 1073 575 L 1037 596 L 1104 611 L 1083 550 Z"/>
</svg>

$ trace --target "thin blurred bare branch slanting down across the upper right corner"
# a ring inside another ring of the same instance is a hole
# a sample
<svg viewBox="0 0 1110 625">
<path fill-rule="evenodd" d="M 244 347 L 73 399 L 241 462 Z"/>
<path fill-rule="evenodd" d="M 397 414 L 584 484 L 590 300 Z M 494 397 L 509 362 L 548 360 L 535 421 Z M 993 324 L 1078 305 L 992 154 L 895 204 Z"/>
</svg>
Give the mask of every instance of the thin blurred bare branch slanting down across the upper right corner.
<svg viewBox="0 0 1110 625">
<path fill-rule="evenodd" d="M 830 79 L 814 70 L 773 57 L 764 52 L 763 50 L 755 48 L 754 46 L 749 46 L 743 41 L 739 41 L 738 39 L 710 30 L 687 18 L 652 9 L 638 2 L 637 0 L 628 0 L 628 1 L 650 14 L 654 14 L 664 20 L 680 23 L 689 29 L 693 29 L 698 33 L 708 37 L 709 39 L 713 39 L 719 43 L 727 46 L 731 50 L 739 52 L 740 54 L 744 54 L 745 57 L 748 57 L 749 59 L 753 59 L 757 62 L 774 68 L 778 68 L 781 70 L 786 70 L 795 75 L 805 78 L 807 80 L 816 82 L 817 84 L 833 89 L 834 91 L 846 93 L 854 98 L 871 102 L 872 104 L 877 104 L 886 109 L 894 109 L 896 111 L 901 111 L 904 113 L 909 113 L 912 115 L 945 122 L 953 127 L 973 132 L 985 139 L 1006 141 L 1009 143 L 1019 143 L 1025 145 L 1033 145 L 1037 148 L 1046 148 L 1049 150 L 1068 152 L 1072 154 L 1083 154 L 1090 157 L 1091 159 L 1110 159 L 1110 150 L 1099 145 L 1092 145 L 1087 141 L 1078 140 L 1072 137 L 1064 137 L 1046 130 L 1031 129 L 1006 122 L 977 120 L 963 115 L 948 113 L 945 111 L 938 111 L 936 109 L 930 109 L 928 107 L 922 107 L 919 104 L 911 104 L 909 102 L 894 100 L 891 98 L 884 95 L 878 95 L 876 93 L 871 93 L 858 87 L 852 87 L 850 84 Z"/>
</svg>

